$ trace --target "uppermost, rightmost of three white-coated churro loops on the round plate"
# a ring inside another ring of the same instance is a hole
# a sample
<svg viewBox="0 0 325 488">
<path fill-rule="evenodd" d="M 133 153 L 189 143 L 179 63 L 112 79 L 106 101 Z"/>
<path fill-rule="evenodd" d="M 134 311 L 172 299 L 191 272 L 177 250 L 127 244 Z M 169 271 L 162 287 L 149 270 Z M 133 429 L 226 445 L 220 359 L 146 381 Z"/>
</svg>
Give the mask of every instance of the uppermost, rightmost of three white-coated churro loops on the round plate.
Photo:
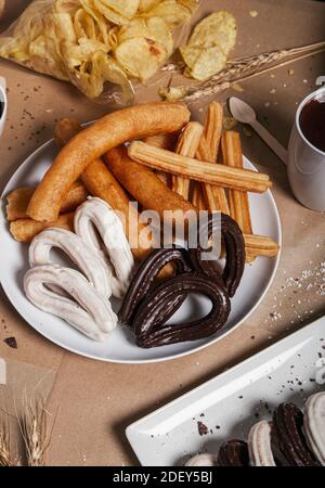
<svg viewBox="0 0 325 488">
<path fill-rule="evenodd" d="M 107 255 L 101 248 L 94 228 L 103 240 Z M 117 215 L 103 200 L 89 197 L 76 211 L 75 231 L 101 256 L 103 266 L 110 271 L 113 295 L 121 298 L 130 284 L 134 259 Z"/>
</svg>

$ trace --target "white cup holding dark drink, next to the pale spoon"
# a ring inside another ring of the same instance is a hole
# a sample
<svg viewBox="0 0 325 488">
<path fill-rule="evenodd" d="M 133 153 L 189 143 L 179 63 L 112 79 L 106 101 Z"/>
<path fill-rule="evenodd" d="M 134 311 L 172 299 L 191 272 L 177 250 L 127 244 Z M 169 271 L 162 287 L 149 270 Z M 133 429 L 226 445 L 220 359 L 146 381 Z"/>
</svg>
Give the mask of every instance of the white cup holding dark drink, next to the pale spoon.
<svg viewBox="0 0 325 488">
<path fill-rule="evenodd" d="M 318 88 L 300 103 L 288 147 L 288 178 L 296 198 L 312 210 L 325 210 L 325 152 L 303 134 L 300 115 L 312 100 L 325 102 L 325 87 Z M 325 128 L 324 128 L 325 130 Z"/>
</svg>

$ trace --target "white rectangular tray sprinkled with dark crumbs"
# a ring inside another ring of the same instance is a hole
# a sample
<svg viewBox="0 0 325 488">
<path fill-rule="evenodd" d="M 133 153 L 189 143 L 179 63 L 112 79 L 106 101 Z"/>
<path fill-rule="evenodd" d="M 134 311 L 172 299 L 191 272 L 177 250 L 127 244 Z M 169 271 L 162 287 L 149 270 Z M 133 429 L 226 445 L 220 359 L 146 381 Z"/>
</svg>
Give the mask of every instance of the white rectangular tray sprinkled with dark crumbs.
<svg viewBox="0 0 325 488">
<path fill-rule="evenodd" d="M 142 465 L 183 465 L 197 452 L 216 453 L 224 440 L 247 439 L 250 426 L 283 401 L 302 407 L 325 389 L 324 367 L 325 317 L 129 425 L 127 437 Z"/>
</svg>

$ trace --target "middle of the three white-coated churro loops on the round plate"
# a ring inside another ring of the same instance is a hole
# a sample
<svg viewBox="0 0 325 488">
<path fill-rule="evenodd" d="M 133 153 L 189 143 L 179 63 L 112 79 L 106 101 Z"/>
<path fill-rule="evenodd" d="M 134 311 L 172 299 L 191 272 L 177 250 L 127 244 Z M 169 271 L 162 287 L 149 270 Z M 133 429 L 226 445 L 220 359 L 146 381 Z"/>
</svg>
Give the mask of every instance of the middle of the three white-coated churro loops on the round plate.
<svg viewBox="0 0 325 488">
<path fill-rule="evenodd" d="M 52 247 L 64 251 L 99 293 L 106 298 L 112 295 L 109 270 L 79 235 L 68 230 L 50 228 L 36 235 L 29 247 L 30 267 L 51 265 Z"/>
</svg>

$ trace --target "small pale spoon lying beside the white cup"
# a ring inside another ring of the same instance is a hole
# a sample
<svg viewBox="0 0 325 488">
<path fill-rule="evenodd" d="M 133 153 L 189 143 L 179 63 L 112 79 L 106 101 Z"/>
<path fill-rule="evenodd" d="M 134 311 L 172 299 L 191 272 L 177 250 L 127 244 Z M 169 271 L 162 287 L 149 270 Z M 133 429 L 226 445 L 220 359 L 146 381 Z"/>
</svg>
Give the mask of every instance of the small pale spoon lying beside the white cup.
<svg viewBox="0 0 325 488">
<path fill-rule="evenodd" d="M 246 102 L 231 97 L 229 101 L 230 111 L 232 116 L 242 124 L 249 124 L 253 130 L 260 136 L 261 139 L 272 149 L 272 151 L 287 164 L 288 152 L 281 145 L 277 140 L 271 136 L 271 133 L 257 120 L 256 113 Z"/>
</svg>

